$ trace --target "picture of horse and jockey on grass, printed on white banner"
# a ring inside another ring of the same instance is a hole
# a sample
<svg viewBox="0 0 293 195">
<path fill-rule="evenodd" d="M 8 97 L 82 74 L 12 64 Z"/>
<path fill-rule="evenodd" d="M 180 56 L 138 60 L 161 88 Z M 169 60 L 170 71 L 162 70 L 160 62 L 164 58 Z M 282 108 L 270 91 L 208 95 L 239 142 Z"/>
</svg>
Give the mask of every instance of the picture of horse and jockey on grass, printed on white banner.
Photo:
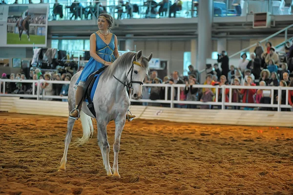
<svg viewBox="0 0 293 195">
<path fill-rule="evenodd" d="M 48 4 L 9 5 L 6 46 L 46 46 Z"/>
</svg>

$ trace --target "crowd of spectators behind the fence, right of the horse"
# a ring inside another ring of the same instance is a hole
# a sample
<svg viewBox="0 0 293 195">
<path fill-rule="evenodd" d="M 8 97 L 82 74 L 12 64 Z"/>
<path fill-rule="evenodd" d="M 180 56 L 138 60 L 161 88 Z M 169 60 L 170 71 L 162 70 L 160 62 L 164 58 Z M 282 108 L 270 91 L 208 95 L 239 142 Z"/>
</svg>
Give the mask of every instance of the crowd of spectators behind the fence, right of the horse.
<svg viewBox="0 0 293 195">
<path fill-rule="evenodd" d="M 213 67 L 207 68 L 206 80 L 203 85 L 222 86 L 281 86 L 293 87 L 293 44 L 287 42 L 284 47 L 284 55 L 279 55 L 272 46 L 272 43 L 266 43 L 264 49 L 260 43 L 257 43 L 255 50 L 251 53 L 251 58 L 247 59 L 247 54 L 243 53 L 238 65 L 230 65 L 229 57 L 226 51 L 218 55 L 218 63 Z M 221 67 L 221 68 L 220 68 Z M 179 72 L 174 71 L 172 75 L 165 76 L 163 80 L 158 77 L 157 71 L 152 71 L 150 76 L 146 76 L 145 83 L 152 84 L 185 84 L 186 87 L 180 88 L 180 95 L 177 95 L 177 88 L 172 94 L 174 100 L 201 101 L 212 102 L 216 98 L 216 88 L 196 88 L 193 85 L 200 84 L 199 72 L 189 65 L 188 76 L 179 77 Z M 166 87 L 143 87 L 143 99 L 165 100 Z M 233 89 L 233 103 L 258 103 L 258 104 L 286 104 L 286 90 L 282 91 L 281 97 L 278 97 L 277 90 L 271 94 L 271 90 L 263 89 Z M 167 94 L 168 100 L 171 99 L 170 90 Z M 218 91 L 218 102 L 222 102 L 222 89 Z M 225 102 L 229 102 L 229 89 L 225 90 Z M 288 104 L 293 108 L 293 91 L 288 93 Z M 160 103 L 143 103 L 149 106 L 167 106 L 169 104 Z M 177 108 L 221 108 L 221 106 L 211 105 L 188 105 L 175 104 Z M 241 107 L 231 107 L 232 109 L 240 109 Z M 253 108 L 244 107 L 246 110 L 276 110 L 276 108 Z M 290 108 L 282 108 L 281 110 L 290 111 Z M 293 110 L 293 109 L 292 109 Z"/>
</svg>

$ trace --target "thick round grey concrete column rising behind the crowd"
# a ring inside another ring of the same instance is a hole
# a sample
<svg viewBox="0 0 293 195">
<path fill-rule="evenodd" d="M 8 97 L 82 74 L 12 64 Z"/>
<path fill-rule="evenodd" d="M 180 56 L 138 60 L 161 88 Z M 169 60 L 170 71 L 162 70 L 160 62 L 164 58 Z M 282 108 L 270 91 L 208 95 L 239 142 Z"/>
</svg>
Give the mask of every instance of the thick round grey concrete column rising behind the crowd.
<svg viewBox="0 0 293 195">
<path fill-rule="evenodd" d="M 206 59 L 211 57 L 213 0 L 199 1 L 198 10 L 197 69 L 201 71 L 206 68 Z"/>
</svg>

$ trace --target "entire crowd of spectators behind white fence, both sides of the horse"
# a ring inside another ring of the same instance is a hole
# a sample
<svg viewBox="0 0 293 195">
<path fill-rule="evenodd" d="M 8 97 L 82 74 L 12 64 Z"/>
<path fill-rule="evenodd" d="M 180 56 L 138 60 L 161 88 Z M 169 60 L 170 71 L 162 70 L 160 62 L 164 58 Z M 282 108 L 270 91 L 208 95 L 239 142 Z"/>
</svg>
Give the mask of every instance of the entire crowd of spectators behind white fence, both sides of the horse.
<svg viewBox="0 0 293 195">
<path fill-rule="evenodd" d="M 142 99 L 150 100 L 181 100 L 181 101 L 201 101 L 201 102 L 213 102 L 216 100 L 216 94 L 218 94 L 218 102 L 229 102 L 229 89 L 225 90 L 225 100 L 222 100 L 222 88 L 219 88 L 216 93 L 216 88 L 201 88 L 196 87 L 198 84 L 211 85 L 211 86 L 281 86 L 281 87 L 293 87 L 293 44 L 286 43 L 284 48 L 284 55 L 278 55 L 272 43 L 268 42 L 266 48 L 262 48 L 258 44 L 253 53 L 250 55 L 250 59 L 247 59 L 246 53 L 241 55 L 238 65 L 230 65 L 229 57 L 225 51 L 218 55 L 218 63 L 213 67 L 206 69 L 206 79 L 200 83 L 200 73 L 194 68 L 193 65 L 188 66 L 188 76 L 180 75 L 180 72 L 174 71 L 171 75 L 167 75 L 162 79 L 159 78 L 157 71 L 151 71 L 149 76 L 146 76 L 145 84 L 184 84 L 185 87 L 180 87 L 179 95 L 178 88 L 175 87 L 171 94 L 170 87 L 166 91 L 166 87 L 146 87 L 143 86 Z M 284 57 L 284 58 L 282 58 Z M 81 67 L 82 68 L 82 67 Z M 31 68 L 28 79 L 42 80 L 39 87 L 40 94 L 44 95 L 58 95 L 67 96 L 68 87 L 67 84 L 48 84 L 47 80 L 57 81 L 70 81 L 72 75 L 76 71 L 70 71 L 70 66 L 65 68 L 63 72 L 41 72 L 40 69 L 33 70 Z M 64 72 L 65 71 L 65 72 Z M 7 75 L 3 73 L 2 78 L 7 78 Z M 24 74 L 11 74 L 10 79 L 24 80 L 26 76 Z M 1 92 L 3 92 L 3 84 L 1 84 Z M 35 83 L 34 85 L 37 85 Z M 33 86 L 30 83 L 6 83 L 6 93 L 18 93 L 18 94 L 33 94 Z M 37 86 L 34 87 L 37 94 Z M 167 94 L 166 94 L 167 92 Z M 231 100 L 233 103 L 259 103 L 259 104 L 277 104 L 278 101 L 281 104 L 286 104 L 286 90 L 282 91 L 281 97 L 278 97 L 277 90 L 274 90 L 273 94 L 271 90 L 267 89 L 232 89 Z M 52 100 L 52 98 L 47 98 Z M 54 99 L 61 101 L 61 99 Z M 62 99 L 62 101 L 67 101 Z M 169 107 L 167 103 L 158 103 L 154 101 L 152 103 L 133 103 L 139 105 Z M 288 104 L 293 107 L 293 90 L 288 92 Z M 217 109 L 221 106 L 212 105 L 191 105 L 191 104 L 175 104 L 177 108 L 206 108 Z M 228 108 L 228 107 L 227 107 Z M 241 109 L 241 107 L 233 106 L 232 109 Z M 276 108 L 253 108 L 244 107 L 246 110 L 260 109 L 260 110 L 275 110 Z M 282 110 L 290 111 L 290 108 L 282 108 Z"/>
</svg>

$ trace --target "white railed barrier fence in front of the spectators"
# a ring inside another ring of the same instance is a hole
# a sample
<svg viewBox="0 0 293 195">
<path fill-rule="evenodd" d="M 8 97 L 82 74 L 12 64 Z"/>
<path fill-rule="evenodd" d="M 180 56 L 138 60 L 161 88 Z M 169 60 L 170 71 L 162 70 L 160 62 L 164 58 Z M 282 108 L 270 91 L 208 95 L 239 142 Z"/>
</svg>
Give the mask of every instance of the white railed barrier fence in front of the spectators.
<svg viewBox="0 0 293 195">
<path fill-rule="evenodd" d="M 33 90 L 32 94 L 11 94 L 6 93 L 6 83 L 31 83 L 37 85 L 32 85 Z M 3 89 L 0 88 L 0 96 L 8 96 L 8 97 L 25 97 L 25 98 L 36 98 L 37 100 L 45 100 L 46 98 L 53 99 L 67 99 L 67 96 L 59 96 L 59 95 L 44 95 L 42 88 L 40 87 L 43 82 L 48 84 L 69 84 L 69 81 L 45 81 L 45 80 L 10 80 L 10 79 L 0 79 L 0 83 L 3 83 Z M 120 85 L 120 84 L 118 84 Z M 35 86 L 37 86 L 37 94 L 35 93 Z M 122 86 L 121 86 L 122 87 Z M 262 87 L 262 86 L 211 86 L 211 85 L 194 85 L 193 88 L 216 88 L 215 101 L 214 102 L 201 102 L 201 101 L 180 101 L 180 87 L 186 87 L 184 84 L 144 84 L 144 87 L 165 87 L 165 99 L 164 100 L 149 100 L 149 99 L 140 99 L 133 100 L 130 99 L 131 102 L 147 102 L 147 103 L 162 103 L 162 104 L 170 104 L 170 108 L 174 108 L 174 104 L 185 104 L 185 105 L 214 105 L 221 106 L 222 109 L 226 109 L 227 106 L 238 106 L 238 107 L 262 107 L 262 108 L 277 108 L 277 111 L 281 111 L 281 108 L 292 108 L 288 104 L 289 98 L 289 90 L 293 90 L 293 87 Z M 177 89 L 177 94 L 175 91 Z M 219 97 L 219 89 L 222 89 L 222 100 L 218 101 Z M 225 91 L 229 89 L 229 102 L 225 101 Z M 271 104 L 256 104 L 256 103 L 235 103 L 232 102 L 232 89 L 264 89 L 271 91 Z M 168 90 L 171 90 L 170 99 L 168 99 Z M 277 90 L 278 101 L 277 104 L 274 104 L 274 91 Z M 286 90 L 286 97 L 282 97 L 282 90 Z M 175 98 L 176 96 L 176 98 Z M 286 104 L 281 104 L 281 99 L 286 98 Z"/>
</svg>

